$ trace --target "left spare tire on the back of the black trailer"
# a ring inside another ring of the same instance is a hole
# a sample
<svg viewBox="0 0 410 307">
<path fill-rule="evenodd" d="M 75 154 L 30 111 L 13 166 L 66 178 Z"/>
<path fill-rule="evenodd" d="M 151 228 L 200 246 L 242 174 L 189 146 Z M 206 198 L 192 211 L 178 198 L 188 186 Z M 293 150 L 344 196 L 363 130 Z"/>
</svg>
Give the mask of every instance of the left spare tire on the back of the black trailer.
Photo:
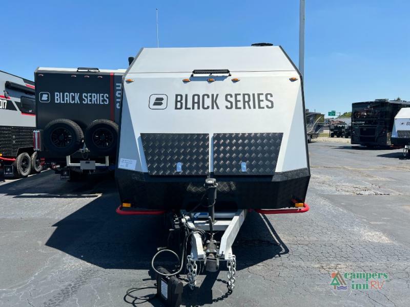
<svg viewBox="0 0 410 307">
<path fill-rule="evenodd" d="M 44 128 L 44 145 L 57 155 L 70 156 L 83 143 L 83 130 L 72 120 L 54 119 Z"/>
</svg>

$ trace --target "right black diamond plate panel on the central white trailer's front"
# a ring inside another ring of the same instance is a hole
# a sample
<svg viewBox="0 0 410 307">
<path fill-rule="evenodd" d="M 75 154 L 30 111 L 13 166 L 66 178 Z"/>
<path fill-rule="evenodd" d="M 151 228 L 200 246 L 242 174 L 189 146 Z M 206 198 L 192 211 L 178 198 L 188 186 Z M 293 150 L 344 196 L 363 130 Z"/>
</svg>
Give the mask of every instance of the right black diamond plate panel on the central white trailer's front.
<svg viewBox="0 0 410 307">
<path fill-rule="evenodd" d="M 282 133 L 214 134 L 214 174 L 273 175 Z M 241 171 L 241 163 L 246 171 Z"/>
</svg>

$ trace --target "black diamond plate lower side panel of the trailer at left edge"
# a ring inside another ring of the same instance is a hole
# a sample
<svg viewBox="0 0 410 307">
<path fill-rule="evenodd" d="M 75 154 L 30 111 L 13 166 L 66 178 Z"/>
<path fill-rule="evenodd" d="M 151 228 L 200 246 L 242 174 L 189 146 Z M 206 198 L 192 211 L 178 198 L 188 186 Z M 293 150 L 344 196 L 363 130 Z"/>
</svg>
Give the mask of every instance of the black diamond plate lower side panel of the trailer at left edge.
<svg viewBox="0 0 410 307">
<path fill-rule="evenodd" d="M 0 126 L 0 153 L 15 157 L 18 148 L 33 147 L 33 127 Z"/>
</svg>

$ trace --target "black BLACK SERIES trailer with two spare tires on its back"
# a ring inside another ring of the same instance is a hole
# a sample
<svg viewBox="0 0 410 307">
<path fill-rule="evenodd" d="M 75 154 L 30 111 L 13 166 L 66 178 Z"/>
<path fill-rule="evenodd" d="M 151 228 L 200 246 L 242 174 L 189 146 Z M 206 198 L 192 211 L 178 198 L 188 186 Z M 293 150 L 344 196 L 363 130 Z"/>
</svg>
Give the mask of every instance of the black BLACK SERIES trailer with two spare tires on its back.
<svg viewBox="0 0 410 307">
<path fill-rule="evenodd" d="M 34 148 L 62 179 L 114 169 L 124 72 L 97 68 L 35 71 Z"/>
</svg>

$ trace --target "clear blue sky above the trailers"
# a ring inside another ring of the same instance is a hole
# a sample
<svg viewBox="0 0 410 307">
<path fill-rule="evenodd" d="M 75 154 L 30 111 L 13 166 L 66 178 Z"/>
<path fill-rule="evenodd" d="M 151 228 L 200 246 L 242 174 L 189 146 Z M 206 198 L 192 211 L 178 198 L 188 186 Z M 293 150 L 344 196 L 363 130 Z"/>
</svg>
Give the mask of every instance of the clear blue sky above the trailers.
<svg viewBox="0 0 410 307">
<path fill-rule="evenodd" d="M 8 1 L 0 70 L 33 79 L 38 66 L 126 68 L 156 47 L 281 45 L 298 63 L 299 1 Z M 375 98 L 410 100 L 407 0 L 306 0 L 305 101 L 350 111 Z"/>
</svg>

